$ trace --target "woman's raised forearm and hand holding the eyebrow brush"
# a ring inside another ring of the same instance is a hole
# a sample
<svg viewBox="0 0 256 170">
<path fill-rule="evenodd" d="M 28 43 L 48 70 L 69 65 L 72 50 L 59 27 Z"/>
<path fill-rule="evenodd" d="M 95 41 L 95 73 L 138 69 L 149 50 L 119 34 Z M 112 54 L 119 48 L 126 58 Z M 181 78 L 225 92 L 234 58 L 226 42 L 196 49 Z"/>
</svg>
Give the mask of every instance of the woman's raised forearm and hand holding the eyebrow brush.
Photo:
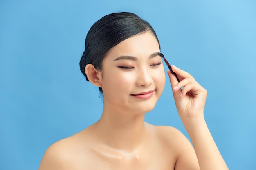
<svg viewBox="0 0 256 170">
<path fill-rule="evenodd" d="M 178 83 L 177 78 L 167 71 L 173 88 L 175 104 L 191 138 L 200 170 L 227 170 L 228 167 L 204 120 L 207 91 L 189 73 L 175 66 L 172 66 L 172 70 L 180 78 Z"/>
</svg>

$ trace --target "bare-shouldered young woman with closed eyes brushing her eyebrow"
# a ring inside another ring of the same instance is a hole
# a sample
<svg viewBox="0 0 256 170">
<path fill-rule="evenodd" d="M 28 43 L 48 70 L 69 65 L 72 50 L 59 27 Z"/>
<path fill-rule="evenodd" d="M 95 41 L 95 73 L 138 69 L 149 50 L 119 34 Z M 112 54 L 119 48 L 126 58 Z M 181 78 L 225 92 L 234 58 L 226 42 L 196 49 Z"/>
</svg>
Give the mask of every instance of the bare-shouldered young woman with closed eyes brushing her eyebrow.
<svg viewBox="0 0 256 170">
<path fill-rule="evenodd" d="M 164 90 L 160 45 L 133 13 L 97 21 L 85 39 L 81 72 L 104 98 L 99 121 L 50 146 L 39 170 L 226 170 L 204 120 L 207 91 L 187 72 L 167 71 L 180 118 L 191 138 L 144 122 Z M 182 89 L 183 87 L 183 89 Z"/>
</svg>

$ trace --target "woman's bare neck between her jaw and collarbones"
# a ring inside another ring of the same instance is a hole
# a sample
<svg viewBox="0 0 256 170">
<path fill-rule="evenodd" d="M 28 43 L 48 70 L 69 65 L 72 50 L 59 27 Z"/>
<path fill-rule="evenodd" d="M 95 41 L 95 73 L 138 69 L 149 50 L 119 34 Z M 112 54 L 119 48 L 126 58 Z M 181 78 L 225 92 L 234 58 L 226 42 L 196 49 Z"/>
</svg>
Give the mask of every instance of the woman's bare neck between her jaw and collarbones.
<svg viewBox="0 0 256 170">
<path fill-rule="evenodd" d="M 102 116 L 94 124 L 97 134 L 108 147 L 131 152 L 136 150 L 146 139 L 144 113 L 117 113 L 104 108 Z"/>
</svg>

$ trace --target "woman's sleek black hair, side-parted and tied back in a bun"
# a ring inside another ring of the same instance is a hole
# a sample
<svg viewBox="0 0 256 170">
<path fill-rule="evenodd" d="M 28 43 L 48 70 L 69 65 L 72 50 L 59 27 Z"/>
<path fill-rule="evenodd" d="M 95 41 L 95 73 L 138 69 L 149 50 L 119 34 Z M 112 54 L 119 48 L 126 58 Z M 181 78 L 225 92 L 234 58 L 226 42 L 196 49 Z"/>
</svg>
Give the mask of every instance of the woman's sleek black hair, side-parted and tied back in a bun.
<svg viewBox="0 0 256 170">
<path fill-rule="evenodd" d="M 80 59 L 80 70 L 86 80 L 89 81 L 85 74 L 87 64 L 92 64 L 95 69 L 101 70 L 102 61 L 111 48 L 125 39 L 146 31 L 150 31 L 159 44 L 152 26 L 134 13 L 112 13 L 95 22 L 85 38 L 85 51 Z M 99 90 L 102 93 L 101 87 Z"/>
</svg>

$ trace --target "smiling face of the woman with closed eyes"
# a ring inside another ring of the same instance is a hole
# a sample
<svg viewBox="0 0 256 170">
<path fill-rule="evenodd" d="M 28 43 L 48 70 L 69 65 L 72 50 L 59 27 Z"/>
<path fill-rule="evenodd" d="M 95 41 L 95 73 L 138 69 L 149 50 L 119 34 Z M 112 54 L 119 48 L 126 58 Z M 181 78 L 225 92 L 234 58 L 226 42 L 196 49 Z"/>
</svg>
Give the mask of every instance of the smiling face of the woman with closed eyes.
<svg viewBox="0 0 256 170">
<path fill-rule="evenodd" d="M 125 113 L 151 111 L 165 85 L 157 39 L 145 32 L 113 47 L 103 60 L 104 107 Z"/>
</svg>

